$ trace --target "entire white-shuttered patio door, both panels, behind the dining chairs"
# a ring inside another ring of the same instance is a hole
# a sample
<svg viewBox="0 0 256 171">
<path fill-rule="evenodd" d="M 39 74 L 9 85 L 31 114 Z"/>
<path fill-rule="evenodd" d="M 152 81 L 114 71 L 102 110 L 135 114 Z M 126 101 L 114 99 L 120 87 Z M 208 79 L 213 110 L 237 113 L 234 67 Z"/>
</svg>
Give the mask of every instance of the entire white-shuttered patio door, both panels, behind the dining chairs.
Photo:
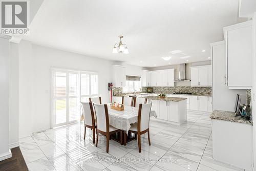
<svg viewBox="0 0 256 171">
<path fill-rule="evenodd" d="M 80 101 L 98 96 L 96 73 L 53 70 L 53 127 L 77 122 Z"/>
</svg>

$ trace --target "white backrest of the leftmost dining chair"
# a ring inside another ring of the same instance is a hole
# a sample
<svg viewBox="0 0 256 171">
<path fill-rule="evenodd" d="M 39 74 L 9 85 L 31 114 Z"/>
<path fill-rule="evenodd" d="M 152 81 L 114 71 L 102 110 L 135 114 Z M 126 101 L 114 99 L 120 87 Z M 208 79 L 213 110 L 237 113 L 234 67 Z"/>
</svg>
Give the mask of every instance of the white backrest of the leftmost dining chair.
<svg viewBox="0 0 256 171">
<path fill-rule="evenodd" d="M 82 114 L 84 117 L 84 125 L 94 126 L 94 114 L 92 102 L 80 102 L 82 108 Z"/>
</svg>

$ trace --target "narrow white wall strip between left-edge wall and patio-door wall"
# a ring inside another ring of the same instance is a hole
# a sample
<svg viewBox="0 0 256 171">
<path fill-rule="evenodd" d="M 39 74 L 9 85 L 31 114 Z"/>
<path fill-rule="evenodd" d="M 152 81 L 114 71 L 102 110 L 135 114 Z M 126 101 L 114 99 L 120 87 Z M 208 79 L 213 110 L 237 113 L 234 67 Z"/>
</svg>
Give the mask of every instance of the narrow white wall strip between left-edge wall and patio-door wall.
<svg viewBox="0 0 256 171">
<path fill-rule="evenodd" d="M 10 148 L 19 146 L 18 44 L 10 43 Z"/>
</svg>

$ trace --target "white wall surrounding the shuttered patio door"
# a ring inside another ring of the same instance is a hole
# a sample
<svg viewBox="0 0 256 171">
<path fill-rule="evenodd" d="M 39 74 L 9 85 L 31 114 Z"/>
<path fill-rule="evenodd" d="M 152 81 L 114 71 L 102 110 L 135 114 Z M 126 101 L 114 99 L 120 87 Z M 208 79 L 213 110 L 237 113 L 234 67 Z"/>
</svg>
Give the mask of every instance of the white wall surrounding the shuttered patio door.
<svg viewBox="0 0 256 171">
<path fill-rule="evenodd" d="M 51 67 L 98 72 L 99 95 L 104 103 L 109 102 L 112 61 L 38 46 L 26 40 L 20 42 L 19 51 L 20 137 L 50 128 Z M 28 125 L 30 120 L 32 124 Z"/>
</svg>

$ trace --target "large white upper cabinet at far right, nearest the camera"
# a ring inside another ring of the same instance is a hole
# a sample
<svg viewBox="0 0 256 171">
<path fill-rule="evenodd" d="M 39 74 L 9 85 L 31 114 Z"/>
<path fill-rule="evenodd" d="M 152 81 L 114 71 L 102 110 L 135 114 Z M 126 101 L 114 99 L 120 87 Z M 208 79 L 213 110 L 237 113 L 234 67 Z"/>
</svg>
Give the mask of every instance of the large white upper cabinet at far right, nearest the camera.
<svg viewBox="0 0 256 171">
<path fill-rule="evenodd" d="M 252 87 L 252 22 L 223 28 L 226 40 L 225 84 L 229 89 Z"/>
</svg>

